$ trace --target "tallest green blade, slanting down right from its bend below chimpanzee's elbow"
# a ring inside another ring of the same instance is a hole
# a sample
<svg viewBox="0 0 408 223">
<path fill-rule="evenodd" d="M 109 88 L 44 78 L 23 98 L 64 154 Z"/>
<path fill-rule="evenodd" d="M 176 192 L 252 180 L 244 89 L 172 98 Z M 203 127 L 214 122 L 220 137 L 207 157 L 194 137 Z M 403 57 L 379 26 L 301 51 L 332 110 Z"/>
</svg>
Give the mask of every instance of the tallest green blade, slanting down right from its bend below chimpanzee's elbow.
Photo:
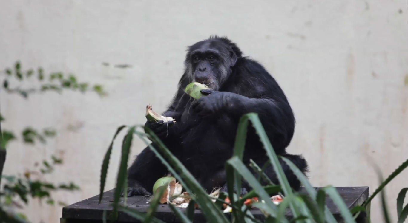
<svg viewBox="0 0 408 223">
<path fill-rule="evenodd" d="M 293 194 L 292 188 L 289 185 L 288 179 L 286 178 L 282 166 L 280 165 L 279 159 L 275 153 L 275 150 L 272 147 L 271 142 L 268 139 L 268 136 L 266 135 L 265 129 L 262 126 L 262 123 L 259 120 L 258 115 L 255 113 L 249 113 L 246 114 L 246 116 L 248 116 L 248 118 L 251 120 L 253 127 L 255 128 L 262 144 L 264 145 L 266 154 L 268 155 L 269 160 L 271 160 L 271 164 L 273 166 L 273 169 L 275 170 L 276 176 L 279 180 L 279 183 L 282 187 L 285 196 Z M 300 212 L 295 203 L 290 203 L 290 209 L 292 210 L 293 216 L 295 218 L 300 215 Z"/>
</svg>

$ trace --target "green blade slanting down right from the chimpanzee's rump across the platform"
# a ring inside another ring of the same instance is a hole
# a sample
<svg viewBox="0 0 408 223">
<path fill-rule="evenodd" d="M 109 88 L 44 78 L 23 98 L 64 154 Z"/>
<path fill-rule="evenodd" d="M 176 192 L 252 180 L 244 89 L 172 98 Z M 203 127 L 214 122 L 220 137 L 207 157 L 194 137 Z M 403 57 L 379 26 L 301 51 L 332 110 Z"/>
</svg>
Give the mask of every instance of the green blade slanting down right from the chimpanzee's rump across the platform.
<svg viewBox="0 0 408 223">
<path fill-rule="evenodd" d="M 282 157 L 282 160 L 284 160 L 284 162 L 286 162 L 286 164 L 289 166 L 289 168 L 293 171 L 293 173 L 296 175 L 297 179 L 299 179 L 299 181 L 303 184 L 303 186 L 306 189 L 306 192 L 308 192 L 309 196 L 312 199 L 317 199 L 317 195 L 318 192 L 315 190 L 315 188 L 310 184 L 310 182 L 308 181 L 308 179 L 306 178 L 306 176 L 302 173 L 302 171 L 299 170 L 299 168 L 297 168 L 297 166 L 295 164 L 293 164 L 292 161 L 286 159 L 285 157 Z M 325 199 L 326 199 L 326 193 L 320 192 L 323 195 L 320 195 L 320 199 L 323 199 L 322 203 L 318 203 L 318 206 L 322 207 L 322 205 L 324 205 L 325 208 L 324 209 L 324 215 L 326 217 L 326 221 L 328 223 L 337 223 L 336 219 L 334 218 L 333 214 L 330 212 L 330 210 L 328 210 L 328 208 L 326 207 L 325 204 Z M 323 196 L 323 197 L 322 197 Z M 322 208 L 321 208 L 322 209 Z"/>
</svg>

